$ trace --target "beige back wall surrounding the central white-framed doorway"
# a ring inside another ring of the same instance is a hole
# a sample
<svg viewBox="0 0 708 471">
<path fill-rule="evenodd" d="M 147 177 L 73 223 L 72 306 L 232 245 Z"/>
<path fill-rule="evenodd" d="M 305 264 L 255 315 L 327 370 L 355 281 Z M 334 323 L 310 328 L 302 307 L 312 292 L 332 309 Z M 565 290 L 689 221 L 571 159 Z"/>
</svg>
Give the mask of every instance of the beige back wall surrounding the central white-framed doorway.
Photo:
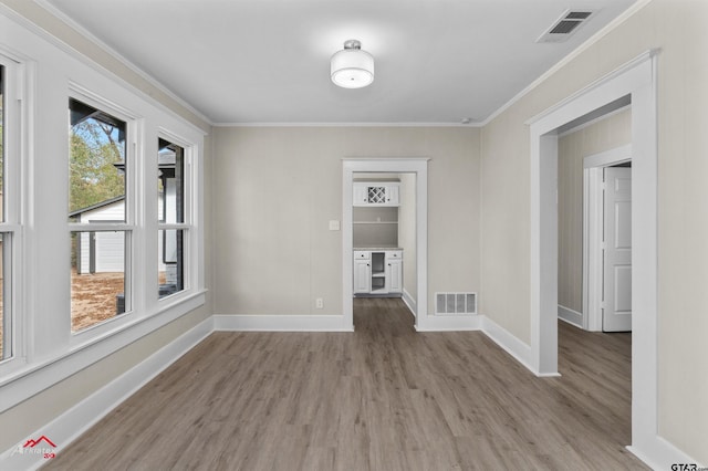
<svg viewBox="0 0 708 471">
<path fill-rule="evenodd" d="M 479 290 L 479 129 L 219 127 L 216 314 L 342 314 L 343 157 L 429 157 L 428 292 Z"/>
</svg>

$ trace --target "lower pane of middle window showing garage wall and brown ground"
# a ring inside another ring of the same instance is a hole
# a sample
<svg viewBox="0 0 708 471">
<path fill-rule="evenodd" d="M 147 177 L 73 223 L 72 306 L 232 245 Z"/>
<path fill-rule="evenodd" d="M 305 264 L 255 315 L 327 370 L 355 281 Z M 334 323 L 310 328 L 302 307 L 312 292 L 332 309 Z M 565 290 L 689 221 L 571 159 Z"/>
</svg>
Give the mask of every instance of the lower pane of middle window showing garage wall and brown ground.
<svg viewBox="0 0 708 471">
<path fill-rule="evenodd" d="M 72 233 L 72 332 L 91 327 L 126 311 L 127 237 L 128 233 L 124 231 Z"/>
</svg>

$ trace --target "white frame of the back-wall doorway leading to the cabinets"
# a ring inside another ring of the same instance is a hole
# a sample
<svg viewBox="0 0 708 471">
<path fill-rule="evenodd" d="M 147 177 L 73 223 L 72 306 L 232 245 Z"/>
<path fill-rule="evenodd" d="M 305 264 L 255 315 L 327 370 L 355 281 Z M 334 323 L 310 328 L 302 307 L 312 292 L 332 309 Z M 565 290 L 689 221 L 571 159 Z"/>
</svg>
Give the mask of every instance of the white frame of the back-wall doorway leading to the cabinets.
<svg viewBox="0 0 708 471">
<path fill-rule="evenodd" d="M 354 229 L 355 172 L 416 174 L 416 329 L 428 325 L 428 158 L 345 158 L 342 161 L 342 312 L 343 327 L 354 329 Z M 405 254 L 404 254 L 405 257 Z"/>
</svg>

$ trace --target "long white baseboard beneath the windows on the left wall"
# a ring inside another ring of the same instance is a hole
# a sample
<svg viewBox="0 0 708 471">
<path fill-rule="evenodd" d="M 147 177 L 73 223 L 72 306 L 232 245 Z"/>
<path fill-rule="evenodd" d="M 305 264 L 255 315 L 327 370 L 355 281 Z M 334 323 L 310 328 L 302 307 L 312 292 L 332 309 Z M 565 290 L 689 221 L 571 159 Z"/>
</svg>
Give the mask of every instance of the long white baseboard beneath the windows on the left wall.
<svg viewBox="0 0 708 471">
<path fill-rule="evenodd" d="M 121 405 L 121 402 L 204 341 L 214 332 L 212 326 L 211 317 L 205 320 L 125 374 L 118 376 L 96 393 L 56 417 L 46 426 L 37 430 L 30 437 L 27 437 L 22 443 L 18 443 L 15 447 L 6 450 L 0 454 L 0 469 L 35 470 L 40 468 L 46 462 L 43 451 L 61 453 L 63 448 L 66 448 L 72 441 Z M 42 436 L 50 439 L 56 448 L 51 448 L 44 443 L 32 449 L 23 448 L 27 440 L 37 440 Z"/>
</svg>

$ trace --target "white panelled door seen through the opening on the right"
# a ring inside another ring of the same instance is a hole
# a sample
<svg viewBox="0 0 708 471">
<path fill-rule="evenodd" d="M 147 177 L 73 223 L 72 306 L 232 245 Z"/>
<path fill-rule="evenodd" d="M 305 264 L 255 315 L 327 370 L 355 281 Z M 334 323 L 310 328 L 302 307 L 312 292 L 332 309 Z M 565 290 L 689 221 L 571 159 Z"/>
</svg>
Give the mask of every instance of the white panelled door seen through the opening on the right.
<svg viewBox="0 0 708 471">
<path fill-rule="evenodd" d="M 604 332 L 632 331 L 632 169 L 607 167 L 604 201 Z"/>
</svg>

